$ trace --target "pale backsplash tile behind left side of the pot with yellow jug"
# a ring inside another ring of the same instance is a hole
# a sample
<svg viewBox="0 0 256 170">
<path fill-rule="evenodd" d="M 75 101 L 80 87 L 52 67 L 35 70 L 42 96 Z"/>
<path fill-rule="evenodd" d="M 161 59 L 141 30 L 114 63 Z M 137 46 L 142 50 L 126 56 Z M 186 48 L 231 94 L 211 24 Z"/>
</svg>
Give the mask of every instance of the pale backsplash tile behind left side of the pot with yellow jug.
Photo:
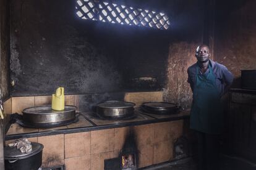
<svg viewBox="0 0 256 170">
<path fill-rule="evenodd" d="M 24 108 L 34 107 L 35 97 L 12 97 L 12 113 L 22 113 Z"/>
</svg>

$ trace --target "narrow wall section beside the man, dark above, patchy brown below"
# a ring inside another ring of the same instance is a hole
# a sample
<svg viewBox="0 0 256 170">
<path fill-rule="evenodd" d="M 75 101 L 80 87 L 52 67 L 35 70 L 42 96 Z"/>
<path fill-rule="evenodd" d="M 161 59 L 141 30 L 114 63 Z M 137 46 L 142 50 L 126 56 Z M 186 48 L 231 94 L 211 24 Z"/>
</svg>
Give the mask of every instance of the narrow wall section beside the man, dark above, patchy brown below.
<svg viewBox="0 0 256 170">
<path fill-rule="evenodd" d="M 184 5 L 186 4 L 186 5 Z M 176 1 L 173 36 L 169 37 L 164 100 L 189 108 L 192 91 L 187 83 L 187 68 L 196 62 L 195 49 L 203 43 L 204 1 Z"/>
</svg>

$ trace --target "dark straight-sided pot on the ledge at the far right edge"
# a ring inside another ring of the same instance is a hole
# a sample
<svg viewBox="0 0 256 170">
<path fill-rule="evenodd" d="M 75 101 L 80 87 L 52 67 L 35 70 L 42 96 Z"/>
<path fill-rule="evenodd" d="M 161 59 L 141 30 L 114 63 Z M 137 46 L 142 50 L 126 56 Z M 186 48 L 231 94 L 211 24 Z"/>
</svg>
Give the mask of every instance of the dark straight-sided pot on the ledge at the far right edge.
<svg viewBox="0 0 256 170">
<path fill-rule="evenodd" d="M 256 70 L 241 70 L 242 89 L 256 90 Z"/>
</svg>

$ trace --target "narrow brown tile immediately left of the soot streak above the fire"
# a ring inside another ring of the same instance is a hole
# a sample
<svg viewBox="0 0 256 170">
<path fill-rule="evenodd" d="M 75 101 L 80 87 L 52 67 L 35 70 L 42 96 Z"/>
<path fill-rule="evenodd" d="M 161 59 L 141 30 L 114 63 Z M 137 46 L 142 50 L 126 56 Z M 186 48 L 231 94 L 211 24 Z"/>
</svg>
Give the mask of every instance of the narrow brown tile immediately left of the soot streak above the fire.
<svg viewBox="0 0 256 170">
<path fill-rule="evenodd" d="M 120 151 L 126 140 L 129 127 L 121 127 L 114 129 L 114 150 Z"/>
</svg>

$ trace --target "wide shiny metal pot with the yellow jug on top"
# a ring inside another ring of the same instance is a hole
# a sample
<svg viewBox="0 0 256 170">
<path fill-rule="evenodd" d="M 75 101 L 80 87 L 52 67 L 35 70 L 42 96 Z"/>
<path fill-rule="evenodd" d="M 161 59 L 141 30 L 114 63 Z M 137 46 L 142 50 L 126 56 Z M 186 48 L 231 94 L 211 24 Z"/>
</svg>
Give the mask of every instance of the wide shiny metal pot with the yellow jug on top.
<svg viewBox="0 0 256 170">
<path fill-rule="evenodd" d="M 75 108 L 69 105 L 63 111 L 52 110 L 51 105 L 25 108 L 22 120 L 35 127 L 62 126 L 75 120 Z"/>
</svg>

